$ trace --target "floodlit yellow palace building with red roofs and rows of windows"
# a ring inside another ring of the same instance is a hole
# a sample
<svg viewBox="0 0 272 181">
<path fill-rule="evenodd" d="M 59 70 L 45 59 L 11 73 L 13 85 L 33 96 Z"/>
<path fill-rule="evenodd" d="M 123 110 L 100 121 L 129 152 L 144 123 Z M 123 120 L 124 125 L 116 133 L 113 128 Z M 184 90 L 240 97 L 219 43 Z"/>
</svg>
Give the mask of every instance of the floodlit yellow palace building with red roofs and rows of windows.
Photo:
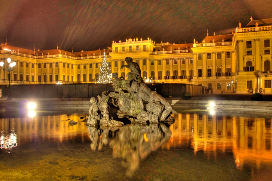
<svg viewBox="0 0 272 181">
<path fill-rule="evenodd" d="M 265 89 L 271 93 L 272 19 L 253 20 L 234 29 L 231 34 L 207 36 L 198 42 L 155 43 L 150 38 L 112 41 L 105 50 L 108 66 L 118 76 L 126 57 L 133 58 L 142 77 L 153 83 L 186 83 L 202 85 L 213 93 L 248 93 Z M 193 38 L 192 38 L 193 39 Z M 65 50 L 28 50 L 0 44 L 0 59 L 16 61 L 11 84 L 95 83 L 104 50 L 68 52 Z M 8 73 L 1 70 L 1 85 L 8 85 Z"/>
</svg>

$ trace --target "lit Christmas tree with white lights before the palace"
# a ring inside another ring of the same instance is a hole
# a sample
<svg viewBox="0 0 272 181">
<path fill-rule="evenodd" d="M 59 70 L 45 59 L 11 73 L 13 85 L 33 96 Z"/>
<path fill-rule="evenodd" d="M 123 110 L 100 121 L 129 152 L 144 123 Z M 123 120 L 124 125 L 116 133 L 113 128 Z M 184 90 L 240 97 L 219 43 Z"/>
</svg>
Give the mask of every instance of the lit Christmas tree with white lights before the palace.
<svg viewBox="0 0 272 181">
<path fill-rule="evenodd" d="M 108 68 L 108 60 L 106 58 L 105 50 L 99 72 L 100 75 L 98 78 L 98 83 L 100 84 L 112 83 L 111 71 Z"/>
</svg>

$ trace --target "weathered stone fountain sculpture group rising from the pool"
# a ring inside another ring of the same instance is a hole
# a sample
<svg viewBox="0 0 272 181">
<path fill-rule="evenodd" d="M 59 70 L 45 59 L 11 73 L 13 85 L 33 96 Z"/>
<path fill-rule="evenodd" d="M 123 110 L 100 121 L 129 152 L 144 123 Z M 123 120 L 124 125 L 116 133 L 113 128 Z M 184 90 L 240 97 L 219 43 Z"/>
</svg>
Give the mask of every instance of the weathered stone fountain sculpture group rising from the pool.
<svg viewBox="0 0 272 181">
<path fill-rule="evenodd" d="M 124 126 L 129 123 L 173 122 L 171 105 L 157 92 L 151 90 L 142 80 L 139 65 L 132 58 L 125 58 L 130 69 L 127 80 L 119 79 L 113 73 L 114 91 L 104 91 L 101 96 L 90 98 L 87 126 Z M 144 107 L 143 101 L 148 104 Z"/>
</svg>

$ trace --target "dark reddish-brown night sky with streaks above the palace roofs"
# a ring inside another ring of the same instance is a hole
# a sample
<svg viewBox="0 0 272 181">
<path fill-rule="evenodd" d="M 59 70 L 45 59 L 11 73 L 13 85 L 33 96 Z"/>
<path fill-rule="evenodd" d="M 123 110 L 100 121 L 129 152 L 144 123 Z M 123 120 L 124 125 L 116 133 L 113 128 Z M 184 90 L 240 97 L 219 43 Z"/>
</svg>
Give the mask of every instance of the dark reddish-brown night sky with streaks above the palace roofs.
<svg viewBox="0 0 272 181">
<path fill-rule="evenodd" d="M 250 16 L 272 18 L 271 0 L 35 1 L 0 0 L 0 43 L 26 49 L 105 49 L 112 40 L 150 37 L 193 43 L 229 34 Z"/>
</svg>

